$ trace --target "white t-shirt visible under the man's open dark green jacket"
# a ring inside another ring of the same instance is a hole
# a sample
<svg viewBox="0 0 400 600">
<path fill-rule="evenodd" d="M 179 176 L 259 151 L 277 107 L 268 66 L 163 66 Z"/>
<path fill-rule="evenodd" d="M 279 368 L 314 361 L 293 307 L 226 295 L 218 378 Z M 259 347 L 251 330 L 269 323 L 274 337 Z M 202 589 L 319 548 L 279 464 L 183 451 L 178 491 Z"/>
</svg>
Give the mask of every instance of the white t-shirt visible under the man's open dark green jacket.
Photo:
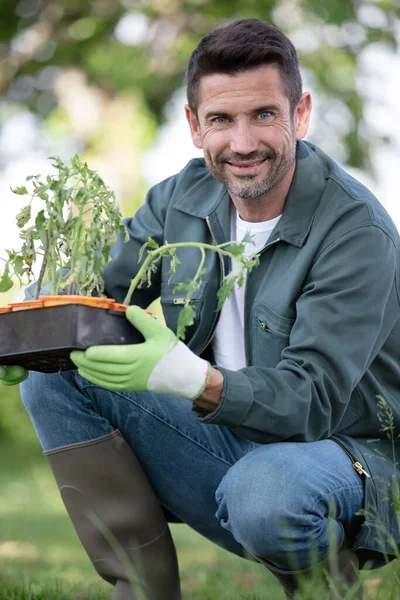
<svg viewBox="0 0 400 600">
<path fill-rule="evenodd" d="M 253 236 L 255 245 L 246 244 L 246 255 L 254 254 L 265 246 L 272 230 L 281 218 L 279 215 L 269 221 L 249 223 L 240 218 L 235 208 L 231 211 L 231 215 L 232 240 L 241 241 L 247 232 Z M 242 287 L 235 284 L 231 295 L 225 300 L 212 341 L 215 364 L 231 371 L 237 371 L 246 366 L 243 329 L 245 286 L 246 281 Z"/>
</svg>

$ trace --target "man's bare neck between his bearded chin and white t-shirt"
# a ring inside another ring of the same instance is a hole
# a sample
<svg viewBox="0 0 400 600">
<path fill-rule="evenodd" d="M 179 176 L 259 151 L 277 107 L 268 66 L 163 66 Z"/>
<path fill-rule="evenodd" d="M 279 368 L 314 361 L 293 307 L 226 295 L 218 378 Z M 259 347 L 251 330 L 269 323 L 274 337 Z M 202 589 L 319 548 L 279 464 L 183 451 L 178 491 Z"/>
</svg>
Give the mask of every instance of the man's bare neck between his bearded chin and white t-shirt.
<svg viewBox="0 0 400 600">
<path fill-rule="evenodd" d="M 258 198 L 243 200 L 243 198 L 238 198 L 238 196 L 231 194 L 232 202 L 240 218 L 249 223 L 260 223 L 261 221 L 269 221 L 270 219 L 279 217 L 285 206 L 294 170 L 295 163 L 293 163 L 289 173 L 287 173 L 282 181 Z"/>
</svg>

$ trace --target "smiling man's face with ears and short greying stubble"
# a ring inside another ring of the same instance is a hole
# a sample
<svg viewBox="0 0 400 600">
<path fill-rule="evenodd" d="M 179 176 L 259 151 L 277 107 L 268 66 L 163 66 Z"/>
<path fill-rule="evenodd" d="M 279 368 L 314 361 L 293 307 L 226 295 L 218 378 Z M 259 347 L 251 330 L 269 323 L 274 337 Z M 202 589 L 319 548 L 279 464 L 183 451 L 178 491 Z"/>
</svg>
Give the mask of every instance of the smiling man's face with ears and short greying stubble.
<svg viewBox="0 0 400 600">
<path fill-rule="evenodd" d="M 292 176 L 296 140 L 307 124 L 304 130 L 298 109 L 291 115 L 277 66 L 204 76 L 197 117 L 188 107 L 186 114 L 194 144 L 232 196 L 258 198 Z"/>
</svg>

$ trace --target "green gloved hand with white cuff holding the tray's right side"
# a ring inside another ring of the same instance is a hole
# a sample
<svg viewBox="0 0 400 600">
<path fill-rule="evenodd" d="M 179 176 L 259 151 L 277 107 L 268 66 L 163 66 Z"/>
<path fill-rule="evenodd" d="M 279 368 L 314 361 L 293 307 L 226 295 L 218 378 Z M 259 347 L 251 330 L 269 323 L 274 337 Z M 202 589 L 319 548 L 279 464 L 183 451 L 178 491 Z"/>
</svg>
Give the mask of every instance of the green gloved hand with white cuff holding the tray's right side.
<svg viewBox="0 0 400 600">
<path fill-rule="evenodd" d="M 210 364 L 199 358 L 138 306 L 126 318 L 145 338 L 142 344 L 92 346 L 74 350 L 71 360 L 92 383 L 113 391 L 155 392 L 195 400 L 204 391 Z"/>
</svg>

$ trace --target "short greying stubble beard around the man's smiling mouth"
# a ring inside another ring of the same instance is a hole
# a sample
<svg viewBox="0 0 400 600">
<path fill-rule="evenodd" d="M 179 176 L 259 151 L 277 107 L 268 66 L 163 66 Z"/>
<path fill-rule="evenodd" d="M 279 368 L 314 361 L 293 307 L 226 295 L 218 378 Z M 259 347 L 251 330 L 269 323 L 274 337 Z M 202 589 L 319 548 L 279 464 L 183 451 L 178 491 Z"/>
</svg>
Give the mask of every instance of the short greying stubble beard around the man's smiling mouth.
<svg viewBox="0 0 400 600">
<path fill-rule="evenodd" d="M 222 183 L 230 194 L 241 198 L 242 200 L 251 200 L 259 198 L 278 183 L 280 183 L 289 173 L 296 158 L 296 140 L 293 141 L 288 151 L 277 155 L 274 150 L 264 152 L 252 152 L 243 156 L 241 154 L 230 154 L 216 156 L 214 160 L 207 154 L 204 155 L 206 164 L 211 175 Z M 261 161 L 266 160 L 268 170 L 266 173 L 255 175 L 229 175 L 226 172 L 226 163 L 240 161 Z"/>
</svg>

